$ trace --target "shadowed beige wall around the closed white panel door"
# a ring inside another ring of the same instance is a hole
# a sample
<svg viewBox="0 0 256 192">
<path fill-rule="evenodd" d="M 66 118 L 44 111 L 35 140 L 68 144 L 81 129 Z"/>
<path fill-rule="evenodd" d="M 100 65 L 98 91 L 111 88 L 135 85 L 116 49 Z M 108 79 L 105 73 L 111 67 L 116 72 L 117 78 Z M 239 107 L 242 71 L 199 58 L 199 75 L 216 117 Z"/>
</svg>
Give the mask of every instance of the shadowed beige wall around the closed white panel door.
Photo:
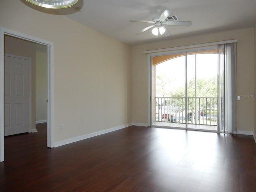
<svg viewBox="0 0 256 192">
<path fill-rule="evenodd" d="M 4 38 L 4 53 L 31 58 L 31 129 L 36 128 L 36 44 L 10 36 Z"/>
</svg>

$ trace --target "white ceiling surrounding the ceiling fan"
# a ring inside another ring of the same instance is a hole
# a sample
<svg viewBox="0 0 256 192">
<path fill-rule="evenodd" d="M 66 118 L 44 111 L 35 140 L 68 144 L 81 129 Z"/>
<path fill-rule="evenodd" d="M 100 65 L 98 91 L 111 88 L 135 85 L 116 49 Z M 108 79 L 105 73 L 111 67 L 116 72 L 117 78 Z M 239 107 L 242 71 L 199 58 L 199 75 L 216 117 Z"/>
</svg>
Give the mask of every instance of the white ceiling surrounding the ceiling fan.
<svg viewBox="0 0 256 192">
<path fill-rule="evenodd" d="M 82 8 L 83 12 L 77 12 Z M 137 35 L 149 23 L 129 20 L 151 20 L 156 8 L 169 9 L 180 21 L 192 26 L 166 26 L 170 37 L 154 36 L 151 30 Z M 130 45 L 254 27 L 256 0 L 80 0 L 75 6 L 58 10 L 94 30 Z"/>
</svg>

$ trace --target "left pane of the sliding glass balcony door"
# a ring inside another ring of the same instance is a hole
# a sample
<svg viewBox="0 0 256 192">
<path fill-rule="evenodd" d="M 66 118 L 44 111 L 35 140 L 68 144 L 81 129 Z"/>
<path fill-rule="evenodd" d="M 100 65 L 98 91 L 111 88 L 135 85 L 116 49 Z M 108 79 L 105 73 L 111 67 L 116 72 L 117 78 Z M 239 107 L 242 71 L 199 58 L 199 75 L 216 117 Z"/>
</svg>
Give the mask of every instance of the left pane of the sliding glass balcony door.
<svg viewBox="0 0 256 192">
<path fill-rule="evenodd" d="M 186 54 L 152 58 L 152 125 L 186 128 Z M 172 123 L 172 124 L 170 124 Z"/>
</svg>

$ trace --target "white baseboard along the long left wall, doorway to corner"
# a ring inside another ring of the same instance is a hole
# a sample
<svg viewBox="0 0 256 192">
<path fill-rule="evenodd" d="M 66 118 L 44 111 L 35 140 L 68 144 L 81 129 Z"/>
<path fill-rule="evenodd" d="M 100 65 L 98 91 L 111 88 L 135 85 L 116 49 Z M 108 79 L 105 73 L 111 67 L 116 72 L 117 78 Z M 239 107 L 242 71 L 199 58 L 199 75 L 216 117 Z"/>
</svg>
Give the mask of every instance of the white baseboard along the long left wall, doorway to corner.
<svg viewBox="0 0 256 192">
<path fill-rule="evenodd" d="M 87 135 L 82 135 L 82 136 L 70 138 L 70 139 L 67 139 L 67 140 L 64 140 L 64 141 L 55 142 L 54 143 L 54 147 L 59 147 L 59 146 L 62 146 L 62 145 L 66 145 L 66 144 L 70 144 L 70 143 L 73 143 L 73 142 L 77 142 L 77 141 L 81 141 L 81 140 L 84 140 L 84 139 L 88 139 L 88 138 L 91 138 L 91 137 L 95 137 L 95 136 L 98 136 L 98 135 L 102 135 L 102 134 L 105 134 L 105 133 L 109 133 L 109 132 L 112 132 L 112 131 L 123 129 L 123 128 L 129 127 L 131 125 L 132 124 L 130 123 L 130 124 L 126 124 L 126 125 L 122 125 L 122 126 L 117 126 L 117 127 L 114 127 L 114 128 L 110 128 L 110 129 L 106 129 L 106 130 L 90 133 L 90 134 L 87 134 Z"/>
</svg>

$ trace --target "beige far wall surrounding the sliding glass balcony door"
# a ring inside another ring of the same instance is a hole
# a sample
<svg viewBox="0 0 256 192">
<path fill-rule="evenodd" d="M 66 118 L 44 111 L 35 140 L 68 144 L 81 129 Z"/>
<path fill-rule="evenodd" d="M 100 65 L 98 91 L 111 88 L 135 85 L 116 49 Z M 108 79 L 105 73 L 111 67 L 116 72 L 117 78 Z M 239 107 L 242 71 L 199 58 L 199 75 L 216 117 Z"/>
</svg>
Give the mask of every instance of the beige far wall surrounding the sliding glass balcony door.
<svg viewBox="0 0 256 192">
<path fill-rule="evenodd" d="M 254 28 L 221 33 L 173 39 L 164 42 L 132 47 L 132 122 L 148 122 L 148 58 L 146 50 L 172 48 L 237 39 L 237 95 L 254 94 Z M 254 131 L 254 98 L 237 101 L 237 128 L 240 131 Z"/>
</svg>

